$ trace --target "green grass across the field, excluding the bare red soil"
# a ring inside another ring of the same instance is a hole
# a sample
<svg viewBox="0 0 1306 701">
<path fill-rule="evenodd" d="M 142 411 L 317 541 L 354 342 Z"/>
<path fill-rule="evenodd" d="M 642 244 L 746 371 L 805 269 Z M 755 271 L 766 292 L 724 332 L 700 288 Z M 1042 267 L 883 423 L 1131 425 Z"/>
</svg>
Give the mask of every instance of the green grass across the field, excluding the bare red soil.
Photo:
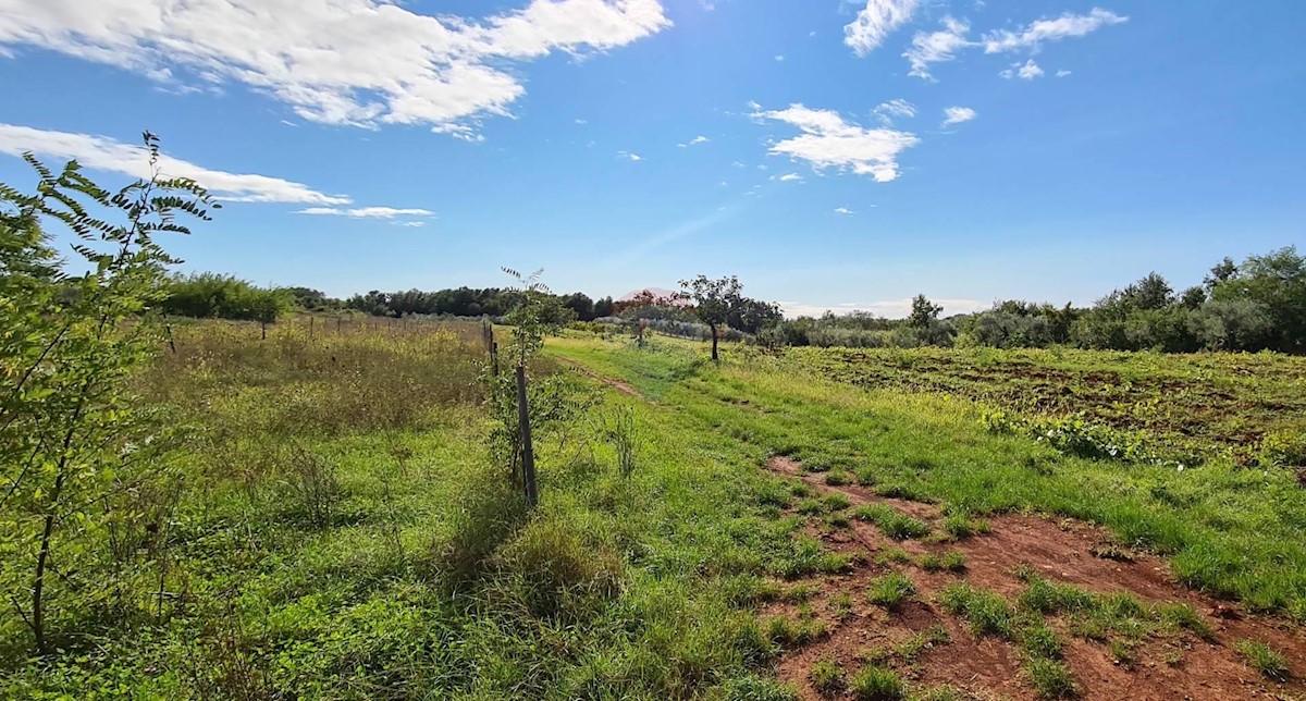
<svg viewBox="0 0 1306 701">
<path fill-rule="evenodd" d="M 1094 420 L 1170 440 L 1169 427 L 1212 419 L 1209 433 L 1175 445 L 1226 445 L 1238 426 L 1247 436 L 1297 426 L 1306 413 L 1284 388 L 1298 360 L 895 351 L 808 362 L 806 351 L 777 359 L 727 345 L 717 368 L 696 343 L 550 339 L 537 377 L 580 363 L 644 398 L 572 380 L 606 406 L 537 436 L 542 506 L 528 516 L 486 448 L 474 329 L 311 342 L 278 325 L 266 343 L 251 329 L 179 329 L 179 352 L 142 377 L 142 392 L 201 428 L 178 457 L 185 479 L 159 560 L 165 595 L 154 594 L 159 570 L 144 567 L 148 577 L 119 582 L 121 607 L 56 616 L 74 634 L 61 640 L 65 655 L 39 664 L 22 621 L 0 619 L 0 696 L 791 698 L 765 670 L 780 645 L 825 633 L 812 617 L 759 621 L 756 610 L 781 597 L 772 580 L 854 563 L 806 535 L 804 516 L 850 510 L 895 538 L 930 529 L 777 478 L 761 467 L 777 454 L 825 479 L 855 475 L 940 504 L 949 538 L 1012 510 L 1102 523 L 1123 546 L 1168 556 L 1194 589 L 1306 620 L 1306 491 L 1288 471 L 1239 469 L 1238 450 L 1183 471 L 1067 457 L 985 431 L 985 407 L 965 399 L 995 389 L 1002 407 L 1021 410 L 1011 398 L 1046 398 L 1034 371 L 1051 368 L 1051 382 L 1072 389 L 1057 402 L 1091 406 Z M 883 386 L 868 367 L 884 369 Z M 1132 389 L 1088 379 L 1107 371 Z M 1168 379 L 1178 389 L 1153 402 Z M 900 392 L 913 384 L 953 396 Z M 1251 409 L 1218 399 L 1203 410 L 1204 386 Z M 628 478 L 596 432 L 614 406 L 641 435 Z M 896 548 L 878 559 L 909 560 Z M 1208 629 L 1179 607 L 1033 578 L 1028 589 L 1021 615 L 1064 616 L 1094 640 Z M 980 634 L 1023 640 L 1000 597 L 955 585 L 940 603 Z M 1064 668 L 1046 655 L 1029 659 L 1041 689 L 1074 684 L 1057 681 Z"/>
</svg>

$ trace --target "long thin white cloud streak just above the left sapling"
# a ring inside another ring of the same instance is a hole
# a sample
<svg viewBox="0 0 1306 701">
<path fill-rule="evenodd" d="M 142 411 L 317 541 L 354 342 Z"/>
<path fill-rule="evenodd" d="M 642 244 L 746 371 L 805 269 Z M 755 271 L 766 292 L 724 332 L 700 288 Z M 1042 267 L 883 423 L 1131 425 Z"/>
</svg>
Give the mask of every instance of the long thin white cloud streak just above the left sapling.
<svg viewBox="0 0 1306 701">
<path fill-rule="evenodd" d="M 0 124 L 0 153 L 77 159 L 82 166 L 98 171 L 118 172 L 131 178 L 149 178 L 150 168 L 141 146 L 123 144 L 103 136 L 54 132 Z M 266 175 L 235 174 L 196 166 L 171 155 L 161 155 L 158 162 L 163 175 L 189 178 L 219 200 L 231 202 L 295 202 L 310 205 L 347 205 L 345 195 L 326 195 L 302 183 L 269 178 Z"/>
</svg>

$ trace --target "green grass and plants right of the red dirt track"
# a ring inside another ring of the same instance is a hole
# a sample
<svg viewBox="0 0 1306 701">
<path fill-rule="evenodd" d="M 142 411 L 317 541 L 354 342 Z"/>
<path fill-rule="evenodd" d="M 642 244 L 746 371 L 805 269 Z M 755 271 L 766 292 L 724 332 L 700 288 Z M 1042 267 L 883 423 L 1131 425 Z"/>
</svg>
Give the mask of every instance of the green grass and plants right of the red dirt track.
<svg viewBox="0 0 1306 701">
<path fill-rule="evenodd" d="M 1200 376 L 1204 382 L 1242 381 L 1218 375 L 1222 369 L 1232 373 L 1230 368 L 1242 368 L 1237 377 L 1252 377 L 1252 384 L 1258 375 L 1264 375 L 1271 384 L 1285 386 L 1282 382 L 1297 372 L 1293 368 L 1299 360 L 1250 356 L 1207 360 L 1087 351 L 1067 351 L 1062 356 L 1057 355 L 1060 351 L 827 354 L 819 349 L 797 349 L 782 359 L 772 359 L 729 346 L 720 369 L 701 372 L 699 369 L 677 373 L 671 366 L 680 363 L 688 368 L 690 363 L 679 349 L 666 354 L 639 352 L 615 343 L 565 339 L 554 352 L 586 364 L 593 360 L 596 369 L 609 368 L 607 373 L 622 376 L 641 392 L 662 397 L 677 406 L 688 426 L 696 427 L 693 431 L 738 441 L 756 450 L 759 463 L 765 456 L 788 454 L 804 465 L 855 470 L 859 482 L 942 503 L 948 513 L 972 514 L 970 518 L 1028 509 L 1102 523 L 1119 542 L 1170 557 L 1174 573 L 1194 589 L 1306 620 L 1306 520 L 1301 516 L 1306 513 L 1306 492 L 1289 471 L 1242 470 L 1218 457 L 1183 471 L 1173 466 L 1074 458 L 1024 436 L 983 431 L 983 407 L 964 399 L 923 393 L 904 396 L 892 382 L 887 388 L 862 388 L 861 380 L 832 382 L 820 377 L 842 377 L 844 369 L 868 377 L 859 364 L 874 356 L 891 363 L 885 373 L 892 376 L 919 379 L 926 369 L 929 376 L 935 371 L 965 369 L 972 377 L 965 381 L 980 389 L 957 390 L 963 397 L 978 397 L 993 382 L 1004 382 L 1010 373 L 1003 368 L 1023 377 L 1032 375 L 1038 363 L 1054 369 L 1076 364 L 1089 368 L 1085 372 L 1109 369 L 1138 382 L 1135 390 L 1171 375 L 1188 380 Z M 808 362 L 808 355 L 816 360 Z M 823 364 L 824 360 L 818 362 L 821 358 L 840 358 L 841 364 L 838 368 Z M 948 368 L 944 358 L 952 363 Z M 1178 369 L 1171 372 L 1168 364 Z M 993 368 L 1000 372 L 986 385 L 985 373 Z M 947 392 L 949 386 L 932 389 Z M 1255 393 L 1243 396 L 1246 401 L 1259 401 Z M 1280 403 L 1284 396 L 1277 389 L 1269 392 L 1271 401 Z M 744 398 L 769 411 L 743 411 L 724 401 Z M 1121 410 L 1126 419 L 1130 411 L 1161 418 L 1168 411 L 1175 416 L 1203 414 L 1191 407 L 1181 413 L 1170 406 L 1145 399 L 1124 403 Z M 1277 411 L 1268 420 L 1281 423 L 1280 418 L 1290 414 Z M 1232 414 L 1230 420 L 1255 429 L 1263 419 L 1262 414 Z M 922 469 L 925 465 L 934 467 Z"/>
</svg>

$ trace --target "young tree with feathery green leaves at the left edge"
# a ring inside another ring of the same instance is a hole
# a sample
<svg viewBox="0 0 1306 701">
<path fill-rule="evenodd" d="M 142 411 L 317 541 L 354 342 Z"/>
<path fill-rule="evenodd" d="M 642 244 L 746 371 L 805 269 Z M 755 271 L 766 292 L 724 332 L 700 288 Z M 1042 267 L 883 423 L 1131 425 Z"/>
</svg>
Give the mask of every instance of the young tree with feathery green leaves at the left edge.
<svg viewBox="0 0 1306 701">
<path fill-rule="evenodd" d="M 129 379 L 158 347 L 175 262 L 155 238 L 188 234 L 178 215 L 204 221 L 215 205 L 196 183 L 159 175 L 149 133 L 151 176 L 116 193 L 76 162 L 55 174 L 26 158 L 37 192 L 0 185 L 0 375 L 12 381 L 0 399 L 0 586 L 46 654 L 93 608 L 108 624 L 166 614 L 138 585 L 163 567 L 168 513 L 141 499 L 170 491 L 178 432 Z M 61 268 L 43 219 L 76 236 L 85 273 Z M 103 552 L 123 531 L 135 547 Z"/>
</svg>

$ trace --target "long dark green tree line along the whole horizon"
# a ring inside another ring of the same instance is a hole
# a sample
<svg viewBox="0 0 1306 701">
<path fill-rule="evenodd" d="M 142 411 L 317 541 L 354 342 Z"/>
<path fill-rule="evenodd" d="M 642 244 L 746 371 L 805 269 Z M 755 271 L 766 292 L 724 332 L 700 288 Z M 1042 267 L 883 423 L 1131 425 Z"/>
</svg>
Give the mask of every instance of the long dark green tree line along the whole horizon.
<svg viewBox="0 0 1306 701">
<path fill-rule="evenodd" d="M 1072 346 L 1096 350 L 1164 352 L 1306 352 L 1306 257 L 1296 247 L 1243 261 L 1224 258 L 1199 286 L 1177 291 L 1158 273 L 1113 290 L 1089 307 L 1002 300 L 993 308 L 940 317 L 925 295 L 912 300 L 906 319 L 868 312 L 784 319 L 772 303 L 748 298 L 734 277 L 683 281 L 666 298 L 650 292 L 631 299 L 593 299 L 584 292 L 551 295 L 559 322 L 643 322 L 679 335 L 748 337 L 767 346 Z M 494 317 L 522 303 L 503 287 L 406 290 L 329 298 L 308 287 L 263 288 L 210 273 L 170 281 L 163 309 L 193 317 L 273 321 L 291 309 L 357 312 L 374 316 Z"/>
</svg>

